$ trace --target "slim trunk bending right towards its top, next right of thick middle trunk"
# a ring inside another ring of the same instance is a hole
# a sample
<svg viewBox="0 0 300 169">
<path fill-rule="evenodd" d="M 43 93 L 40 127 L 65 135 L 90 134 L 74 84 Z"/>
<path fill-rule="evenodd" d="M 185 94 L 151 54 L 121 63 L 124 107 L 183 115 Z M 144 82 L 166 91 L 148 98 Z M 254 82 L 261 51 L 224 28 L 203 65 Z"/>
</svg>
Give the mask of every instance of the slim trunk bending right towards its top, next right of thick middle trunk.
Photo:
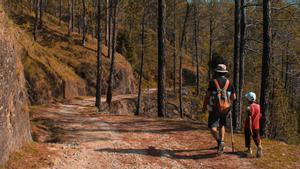
<svg viewBox="0 0 300 169">
<path fill-rule="evenodd" d="M 182 33 L 181 33 L 181 40 L 180 40 L 180 46 L 179 46 L 179 113 L 180 117 L 183 118 L 183 99 L 182 99 L 182 55 L 183 55 L 183 45 L 184 45 L 184 39 L 186 34 L 186 23 L 187 19 L 189 17 L 189 11 L 190 11 L 190 4 L 187 3 L 186 6 L 186 14 L 185 19 L 183 23 Z"/>
</svg>

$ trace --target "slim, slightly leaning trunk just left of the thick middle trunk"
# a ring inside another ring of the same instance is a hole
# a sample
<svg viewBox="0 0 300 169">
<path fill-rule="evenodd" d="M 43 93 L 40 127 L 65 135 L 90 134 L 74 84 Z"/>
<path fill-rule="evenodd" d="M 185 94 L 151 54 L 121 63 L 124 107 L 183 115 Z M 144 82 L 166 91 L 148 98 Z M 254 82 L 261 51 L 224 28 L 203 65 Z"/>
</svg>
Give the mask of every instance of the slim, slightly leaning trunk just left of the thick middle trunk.
<svg viewBox="0 0 300 169">
<path fill-rule="evenodd" d="M 146 10 L 146 9 L 144 9 Z M 143 19 L 142 19 L 142 50 L 141 50 L 141 66 L 140 66 L 140 77 L 139 77 L 139 91 L 138 91 L 138 101 L 135 115 L 139 115 L 141 113 L 141 103 L 142 103 L 142 78 L 143 78 L 143 69 L 144 69 L 144 48 L 145 48 L 145 16 L 146 11 L 144 11 Z"/>
</svg>

